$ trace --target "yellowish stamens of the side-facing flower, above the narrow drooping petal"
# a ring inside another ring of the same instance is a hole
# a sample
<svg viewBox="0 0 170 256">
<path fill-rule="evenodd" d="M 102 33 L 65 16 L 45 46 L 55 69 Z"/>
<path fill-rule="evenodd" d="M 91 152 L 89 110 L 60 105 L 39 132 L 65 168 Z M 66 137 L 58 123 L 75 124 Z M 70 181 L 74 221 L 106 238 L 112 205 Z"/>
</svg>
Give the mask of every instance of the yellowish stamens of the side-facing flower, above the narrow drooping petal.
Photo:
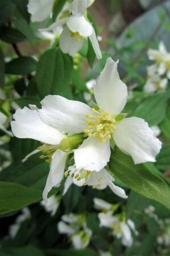
<svg viewBox="0 0 170 256">
<path fill-rule="evenodd" d="M 50 163 L 52 155 L 57 148 L 58 146 L 50 144 L 43 144 L 42 146 L 38 147 L 37 149 L 43 152 L 43 155 L 40 155 L 40 159 L 45 159 L 45 162 Z"/>
</svg>

